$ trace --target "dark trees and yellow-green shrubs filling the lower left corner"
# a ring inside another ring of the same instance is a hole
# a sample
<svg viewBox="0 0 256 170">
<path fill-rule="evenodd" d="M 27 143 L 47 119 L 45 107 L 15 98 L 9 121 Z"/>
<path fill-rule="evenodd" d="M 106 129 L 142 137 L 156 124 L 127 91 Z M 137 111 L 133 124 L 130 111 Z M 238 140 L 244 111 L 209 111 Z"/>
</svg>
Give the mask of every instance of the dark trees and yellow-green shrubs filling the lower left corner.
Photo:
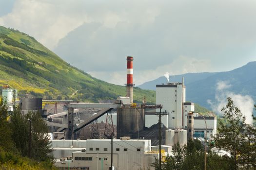
<svg viewBox="0 0 256 170">
<path fill-rule="evenodd" d="M 29 150 L 31 119 L 31 150 Z M 46 133 L 48 127 L 39 113 L 22 115 L 15 108 L 11 116 L 7 106 L 0 101 L 0 169 L 3 170 L 53 170 L 53 157 Z M 29 152 L 30 151 L 30 152 Z M 28 158 L 30 157 L 30 158 Z"/>
</svg>

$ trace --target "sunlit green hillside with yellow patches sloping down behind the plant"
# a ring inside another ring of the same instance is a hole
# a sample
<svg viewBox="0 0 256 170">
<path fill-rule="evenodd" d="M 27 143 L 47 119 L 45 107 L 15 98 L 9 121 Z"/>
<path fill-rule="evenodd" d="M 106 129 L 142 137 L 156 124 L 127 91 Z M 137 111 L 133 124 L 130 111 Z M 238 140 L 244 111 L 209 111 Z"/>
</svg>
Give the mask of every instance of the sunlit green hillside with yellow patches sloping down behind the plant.
<svg viewBox="0 0 256 170">
<path fill-rule="evenodd" d="M 5 84 L 17 88 L 20 97 L 43 99 L 98 102 L 126 94 L 125 86 L 98 80 L 69 65 L 35 38 L 0 26 L 0 85 Z M 155 93 L 135 87 L 134 101 L 142 102 L 146 96 L 147 102 L 154 103 Z"/>
</svg>

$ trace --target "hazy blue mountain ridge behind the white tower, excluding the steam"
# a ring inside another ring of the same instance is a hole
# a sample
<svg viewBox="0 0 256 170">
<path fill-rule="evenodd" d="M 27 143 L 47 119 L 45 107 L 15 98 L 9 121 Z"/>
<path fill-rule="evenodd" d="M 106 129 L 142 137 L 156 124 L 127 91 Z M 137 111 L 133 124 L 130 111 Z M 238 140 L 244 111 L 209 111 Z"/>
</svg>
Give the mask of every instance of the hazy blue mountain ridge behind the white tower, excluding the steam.
<svg viewBox="0 0 256 170">
<path fill-rule="evenodd" d="M 182 77 L 185 77 L 186 99 L 200 104 L 203 107 L 211 109 L 211 105 L 207 101 L 217 102 L 217 84 L 223 82 L 229 86 L 225 89 L 226 92 L 249 95 L 256 101 L 256 61 L 247 63 L 246 65 L 232 69 L 230 71 L 214 72 L 214 73 L 186 73 L 177 75 L 174 82 L 182 82 Z M 205 74 L 205 75 L 204 75 Z M 186 77 L 191 76 L 187 81 Z M 204 75 L 204 76 L 202 76 Z M 202 76 L 202 79 L 197 77 Z M 170 80 L 172 81 L 170 76 Z M 160 82 L 161 81 L 161 82 Z M 159 77 L 150 82 L 146 82 L 138 87 L 143 89 L 156 89 L 157 84 L 166 83 L 165 77 Z M 153 87 L 153 85 L 155 86 Z"/>
</svg>

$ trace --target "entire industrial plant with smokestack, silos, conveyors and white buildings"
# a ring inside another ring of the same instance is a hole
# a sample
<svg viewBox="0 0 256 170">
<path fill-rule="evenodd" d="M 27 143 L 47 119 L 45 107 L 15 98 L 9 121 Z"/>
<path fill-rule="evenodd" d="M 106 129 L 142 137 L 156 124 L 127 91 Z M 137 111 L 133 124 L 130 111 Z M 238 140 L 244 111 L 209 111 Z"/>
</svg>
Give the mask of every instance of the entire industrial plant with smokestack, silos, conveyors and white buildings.
<svg viewBox="0 0 256 170">
<path fill-rule="evenodd" d="M 51 132 L 51 144 L 59 169 L 115 170 L 150 169 L 155 158 L 172 155 L 172 146 L 183 146 L 194 137 L 211 139 L 217 133 L 216 117 L 195 112 L 186 102 L 182 82 L 156 85 L 156 104 L 133 102 L 133 57 L 127 57 L 126 96 L 101 103 L 18 100 L 17 90 L 4 86 L 2 97 L 8 111 L 20 105 L 22 114 L 40 112 Z M 43 105 L 55 104 L 54 113 Z M 63 111 L 58 113 L 58 105 Z M 87 109 L 91 113 L 86 114 Z M 87 115 L 86 119 L 81 119 Z M 205 126 L 207 123 L 207 127 Z M 81 132 L 86 130 L 87 135 Z M 205 136 L 207 134 L 207 136 Z"/>
</svg>

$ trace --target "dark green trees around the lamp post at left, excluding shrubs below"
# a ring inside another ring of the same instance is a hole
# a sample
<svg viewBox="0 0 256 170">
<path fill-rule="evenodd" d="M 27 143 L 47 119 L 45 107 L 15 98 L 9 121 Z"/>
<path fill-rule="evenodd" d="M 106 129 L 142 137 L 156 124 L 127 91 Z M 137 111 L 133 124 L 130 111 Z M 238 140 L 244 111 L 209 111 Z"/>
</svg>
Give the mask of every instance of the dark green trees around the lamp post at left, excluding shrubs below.
<svg viewBox="0 0 256 170">
<path fill-rule="evenodd" d="M 29 147 L 29 121 L 32 123 L 32 150 L 31 157 L 38 161 L 52 160 L 49 136 L 47 135 L 48 127 L 41 118 L 39 112 L 31 112 L 23 115 L 19 108 L 16 108 L 11 116 L 12 138 L 16 148 L 21 155 L 28 156 Z"/>
</svg>

